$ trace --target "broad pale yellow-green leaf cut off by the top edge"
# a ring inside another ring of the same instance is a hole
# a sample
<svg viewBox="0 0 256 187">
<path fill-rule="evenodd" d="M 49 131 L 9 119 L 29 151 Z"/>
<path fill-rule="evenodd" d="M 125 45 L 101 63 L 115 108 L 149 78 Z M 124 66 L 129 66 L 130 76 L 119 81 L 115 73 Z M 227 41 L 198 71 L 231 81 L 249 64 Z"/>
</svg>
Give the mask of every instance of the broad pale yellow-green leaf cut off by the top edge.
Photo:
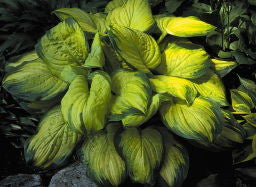
<svg viewBox="0 0 256 187">
<path fill-rule="evenodd" d="M 107 22 L 146 31 L 153 25 L 154 19 L 147 0 L 129 0 L 109 12 Z"/>
</svg>

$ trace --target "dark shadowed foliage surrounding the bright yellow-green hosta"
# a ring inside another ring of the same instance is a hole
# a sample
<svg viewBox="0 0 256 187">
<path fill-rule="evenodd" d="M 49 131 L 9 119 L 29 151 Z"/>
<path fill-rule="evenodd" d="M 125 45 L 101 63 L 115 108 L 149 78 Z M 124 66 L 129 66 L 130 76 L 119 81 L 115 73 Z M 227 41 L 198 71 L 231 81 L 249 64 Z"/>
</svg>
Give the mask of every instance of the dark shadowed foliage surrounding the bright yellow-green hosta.
<svg viewBox="0 0 256 187">
<path fill-rule="evenodd" d="M 0 79 L 4 65 L 12 57 L 32 50 L 40 37 L 58 23 L 51 12 L 62 7 L 79 7 L 87 12 L 103 11 L 108 0 L 0 0 Z M 154 14 L 197 16 L 217 26 L 207 39 L 194 43 L 205 47 L 211 57 L 236 60 L 240 65 L 224 77 L 228 89 L 239 86 L 238 76 L 255 81 L 256 6 L 253 0 L 151 0 Z M 232 9 L 227 9 L 231 5 Z M 248 65 L 249 64 L 249 65 Z M 227 96 L 229 94 L 227 93 Z M 0 180 L 17 173 L 40 173 L 47 185 L 56 170 L 40 171 L 26 165 L 23 143 L 36 131 L 37 118 L 24 111 L 0 87 Z M 203 178 L 217 173 L 218 186 L 233 187 L 238 180 L 256 186 L 256 179 L 235 169 L 254 166 L 254 161 L 232 165 L 232 152 L 209 152 L 177 137 L 188 149 L 189 174 L 183 186 L 196 186 Z M 76 155 L 70 162 L 77 160 Z M 130 186 L 129 181 L 123 186 Z M 136 186 L 133 184 L 132 186 Z M 139 186 L 139 185 L 138 185 Z"/>
</svg>

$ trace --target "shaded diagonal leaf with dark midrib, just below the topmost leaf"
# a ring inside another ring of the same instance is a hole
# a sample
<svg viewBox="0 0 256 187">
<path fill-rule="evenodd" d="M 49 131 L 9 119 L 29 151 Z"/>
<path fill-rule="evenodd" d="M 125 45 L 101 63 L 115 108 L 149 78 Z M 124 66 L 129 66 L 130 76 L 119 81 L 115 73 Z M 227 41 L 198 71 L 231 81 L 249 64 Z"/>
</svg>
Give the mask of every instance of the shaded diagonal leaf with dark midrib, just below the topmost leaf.
<svg viewBox="0 0 256 187">
<path fill-rule="evenodd" d="M 152 36 L 117 25 L 111 32 L 110 39 L 115 43 L 117 52 L 131 68 L 149 73 L 160 64 L 160 50 Z"/>
</svg>

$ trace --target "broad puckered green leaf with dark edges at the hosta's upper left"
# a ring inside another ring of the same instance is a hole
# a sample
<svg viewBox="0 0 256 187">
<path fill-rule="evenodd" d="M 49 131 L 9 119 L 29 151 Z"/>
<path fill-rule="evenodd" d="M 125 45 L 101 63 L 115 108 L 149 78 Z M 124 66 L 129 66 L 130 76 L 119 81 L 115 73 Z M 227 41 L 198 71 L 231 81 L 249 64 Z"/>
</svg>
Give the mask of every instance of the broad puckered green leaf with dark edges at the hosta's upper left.
<svg viewBox="0 0 256 187">
<path fill-rule="evenodd" d="M 88 55 L 88 43 L 80 26 L 68 18 L 49 30 L 36 46 L 36 52 L 54 74 L 66 65 L 82 65 Z"/>
</svg>

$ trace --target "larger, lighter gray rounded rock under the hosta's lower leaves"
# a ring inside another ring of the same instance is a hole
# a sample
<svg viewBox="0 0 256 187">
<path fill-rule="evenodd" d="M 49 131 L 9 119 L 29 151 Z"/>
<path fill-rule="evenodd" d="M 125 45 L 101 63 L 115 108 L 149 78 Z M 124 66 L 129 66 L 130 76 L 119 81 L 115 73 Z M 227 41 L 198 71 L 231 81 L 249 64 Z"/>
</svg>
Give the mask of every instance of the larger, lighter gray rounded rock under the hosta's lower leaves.
<svg viewBox="0 0 256 187">
<path fill-rule="evenodd" d="M 49 187 L 97 187 L 87 177 L 86 167 L 81 162 L 76 162 L 57 172 L 51 179 Z"/>
</svg>

